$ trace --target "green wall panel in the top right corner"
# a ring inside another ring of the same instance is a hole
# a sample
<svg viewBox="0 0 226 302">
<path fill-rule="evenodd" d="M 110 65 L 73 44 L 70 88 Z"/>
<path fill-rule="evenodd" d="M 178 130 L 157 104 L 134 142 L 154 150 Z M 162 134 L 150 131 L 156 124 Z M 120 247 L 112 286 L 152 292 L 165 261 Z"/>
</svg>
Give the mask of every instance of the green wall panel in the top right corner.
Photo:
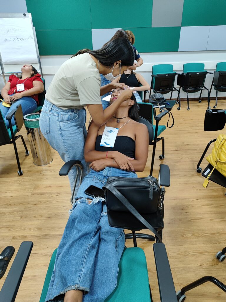
<svg viewBox="0 0 226 302">
<path fill-rule="evenodd" d="M 226 0 L 184 0 L 181 26 L 226 24 Z"/>
</svg>

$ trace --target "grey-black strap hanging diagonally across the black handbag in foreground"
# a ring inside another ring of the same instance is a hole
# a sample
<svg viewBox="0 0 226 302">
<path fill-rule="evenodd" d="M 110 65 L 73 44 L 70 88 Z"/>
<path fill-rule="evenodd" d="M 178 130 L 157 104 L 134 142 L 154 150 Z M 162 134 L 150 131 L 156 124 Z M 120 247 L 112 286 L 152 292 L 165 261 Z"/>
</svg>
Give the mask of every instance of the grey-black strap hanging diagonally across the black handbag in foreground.
<svg viewBox="0 0 226 302">
<path fill-rule="evenodd" d="M 152 233 L 155 234 L 155 236 L 159 239 L 159 241 L 162 243 L 162 238 L 159 236 L 159 233 L 153 228 L 153 226 L 150 225 L 150 223 L 147 222 L 147 220 L 144 219 L 143 216 L 140 215 L 139 212 L 130 204 L 130 202 L 113 186 L 108 183 L 106 183 L 103 188 L 108 189 L 115 195 L 115 197 L 118 198 L 119 201 L 121 201 L 122 204 L 138 219 L 140 222 L 142 222 Z"/>
</svg>

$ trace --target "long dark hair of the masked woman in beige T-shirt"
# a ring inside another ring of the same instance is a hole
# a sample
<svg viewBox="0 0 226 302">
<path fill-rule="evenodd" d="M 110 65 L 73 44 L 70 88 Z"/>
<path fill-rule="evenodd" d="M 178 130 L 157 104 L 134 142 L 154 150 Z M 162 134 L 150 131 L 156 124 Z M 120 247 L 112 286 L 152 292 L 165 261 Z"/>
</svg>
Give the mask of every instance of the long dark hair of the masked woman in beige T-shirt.
<svg viewBox="0 0 226 302">
<path fill-rule="evenodd" d="M 112 67 L 115 62 L 120 60 L 121 66 L 132 66 L 135 59 L 133 46 L 127 38 L 116 38 L 115 40 L 109 41 L 101 49 L 79 50 L 74 56 L 82 53 L 93 55 L 102 65 L 108 68 Z"/>
</svg>

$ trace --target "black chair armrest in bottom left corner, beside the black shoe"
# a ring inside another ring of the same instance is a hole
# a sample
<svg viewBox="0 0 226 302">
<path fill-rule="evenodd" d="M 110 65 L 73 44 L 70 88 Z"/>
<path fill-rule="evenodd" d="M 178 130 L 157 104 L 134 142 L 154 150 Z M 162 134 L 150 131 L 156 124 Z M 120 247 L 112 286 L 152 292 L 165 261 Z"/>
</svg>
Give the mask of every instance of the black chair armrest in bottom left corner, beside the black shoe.
<svg viewBox="0 0 226 302">
<path fill-rule="evenodd" d="M 0 291 L 0 301 L 15 301 L 32 247 L 33 242 L 31 241 L 24 241 L 20 244 L 20 248 Z"/>
</svg>

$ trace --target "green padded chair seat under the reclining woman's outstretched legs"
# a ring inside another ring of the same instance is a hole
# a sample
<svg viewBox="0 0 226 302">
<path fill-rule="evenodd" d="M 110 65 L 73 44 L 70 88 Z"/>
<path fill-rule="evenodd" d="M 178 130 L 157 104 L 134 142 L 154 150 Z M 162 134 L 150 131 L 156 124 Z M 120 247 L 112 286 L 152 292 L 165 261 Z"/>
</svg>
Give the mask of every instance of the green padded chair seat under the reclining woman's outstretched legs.
<svg viewBox="0 0 226 302">
<path fill-rule="evenodd" d="M 55 250 L 49 263 L 46 279 L 39 302 L 44 302 L 49 287 L 54 262 Z M 105 302 L 151 302 L 147 262 L 143 249 L 126 248 L 119 262 L 118 284 Z"/>
</svg>

